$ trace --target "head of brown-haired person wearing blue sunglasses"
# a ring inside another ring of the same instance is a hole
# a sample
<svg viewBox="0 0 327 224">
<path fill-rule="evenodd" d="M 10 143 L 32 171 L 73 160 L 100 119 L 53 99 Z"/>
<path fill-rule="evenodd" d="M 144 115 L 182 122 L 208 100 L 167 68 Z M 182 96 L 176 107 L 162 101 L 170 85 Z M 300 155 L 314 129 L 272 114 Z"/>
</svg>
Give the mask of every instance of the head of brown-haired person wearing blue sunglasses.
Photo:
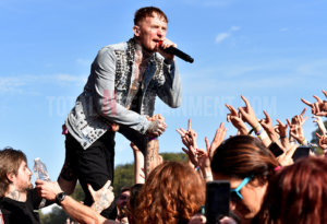
<svg viewBox="0 0 327 224">
<path fill-rule="evenodd" d="M 243 221 L 259 211 L 268 181 L 278 166 L 272 153 L 250 135 L 226 140 L 211 160 L 214 179 L 230 181 L 230 209 Z"/>
</svg>

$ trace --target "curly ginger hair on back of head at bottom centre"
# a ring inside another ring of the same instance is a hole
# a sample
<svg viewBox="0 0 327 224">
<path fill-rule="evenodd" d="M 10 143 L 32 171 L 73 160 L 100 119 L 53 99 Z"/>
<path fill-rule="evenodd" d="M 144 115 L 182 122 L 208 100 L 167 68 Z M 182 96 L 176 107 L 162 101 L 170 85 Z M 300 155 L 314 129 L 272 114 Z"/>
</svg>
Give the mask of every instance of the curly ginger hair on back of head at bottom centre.
<svg viewBox="0 0 327 224">
<path fill-rule="evenodd" d="M 185 164 L 166 162 L 146 179 L 133 220 L 136 224 L 186 224 L 204 201 L 205 185 L 199 175 Z"/>
</svg>

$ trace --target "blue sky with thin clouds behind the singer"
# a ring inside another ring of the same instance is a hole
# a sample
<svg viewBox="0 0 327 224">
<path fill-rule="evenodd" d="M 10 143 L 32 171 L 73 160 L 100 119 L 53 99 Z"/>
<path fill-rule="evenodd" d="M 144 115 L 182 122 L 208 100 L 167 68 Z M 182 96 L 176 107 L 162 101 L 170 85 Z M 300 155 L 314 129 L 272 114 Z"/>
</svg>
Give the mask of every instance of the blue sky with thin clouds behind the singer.
<svg viewBox="0 0 327 224">
<path fill-rule="evenodd" d="M 157 99 L 168 125 L 160 152 L 182 152 L 177 128 L 187 119 L 198 144 L 220 122 L 225 104 L 246 96 L 282 121 L 305 107 L 300 98 L 324 98 L 327 90 L 327 1 L 323 0 L 0 0 L 0 149 L 40 157 L 57 179 L 64 161 L 61 126 L 83 91 L 97 51 L 132 37 L 134 12 L 159 7 L 169 19 L 167 37 L 194 58 L 177 59 L 183 103 Z M 316 125 L 306 111 L 306 138 Z M 116 165 L 133 162 L 129 142 L 116 138 Z"/>
</svg>

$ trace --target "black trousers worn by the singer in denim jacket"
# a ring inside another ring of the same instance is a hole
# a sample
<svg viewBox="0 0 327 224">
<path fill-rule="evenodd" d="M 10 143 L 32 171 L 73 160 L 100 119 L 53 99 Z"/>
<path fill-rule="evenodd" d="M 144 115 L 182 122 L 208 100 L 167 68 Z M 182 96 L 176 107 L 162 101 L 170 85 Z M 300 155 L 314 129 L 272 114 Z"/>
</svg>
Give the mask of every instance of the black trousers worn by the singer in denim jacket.
<svg viewBox="0 0 327 224">
<path fill-rule="evenodd" d="M 119 132 L 136 144 L 143 154 L 145 153 L 147 141 L 143 134 L 123 126 L 120 127 Z M 86 150 L 84 150 L 70 133 L 65 135 L 65 156 L 84 190 L 85 205 L 93 203 L 87 184 L 89 184 L 94 190 L 100 189 L 108 179 L 110 179 L 111 185 L 113 185 L 114 135 L 114 132 L 107 131 Z M 107 210 L 104 210 L 101 215 L 114 220 L 117 215 L 114 203 Z"/>
</svg>

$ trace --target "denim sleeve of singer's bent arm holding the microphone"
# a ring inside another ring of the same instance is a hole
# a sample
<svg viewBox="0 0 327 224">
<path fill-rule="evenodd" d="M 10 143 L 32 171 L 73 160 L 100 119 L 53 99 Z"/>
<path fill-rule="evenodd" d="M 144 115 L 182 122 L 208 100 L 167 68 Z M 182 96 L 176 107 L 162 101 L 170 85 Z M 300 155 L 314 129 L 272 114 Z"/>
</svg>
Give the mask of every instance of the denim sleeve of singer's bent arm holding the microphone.
<svg viewBox="0 0 327 224">
<path fill-rule="evenodd" d="M 167 62 L 164 60 L 165 83 L 161 85 L 157 95 L 168 106 L 177 108 L 182 104 L 181 78 L 175 61 Z"/>
</svg>

